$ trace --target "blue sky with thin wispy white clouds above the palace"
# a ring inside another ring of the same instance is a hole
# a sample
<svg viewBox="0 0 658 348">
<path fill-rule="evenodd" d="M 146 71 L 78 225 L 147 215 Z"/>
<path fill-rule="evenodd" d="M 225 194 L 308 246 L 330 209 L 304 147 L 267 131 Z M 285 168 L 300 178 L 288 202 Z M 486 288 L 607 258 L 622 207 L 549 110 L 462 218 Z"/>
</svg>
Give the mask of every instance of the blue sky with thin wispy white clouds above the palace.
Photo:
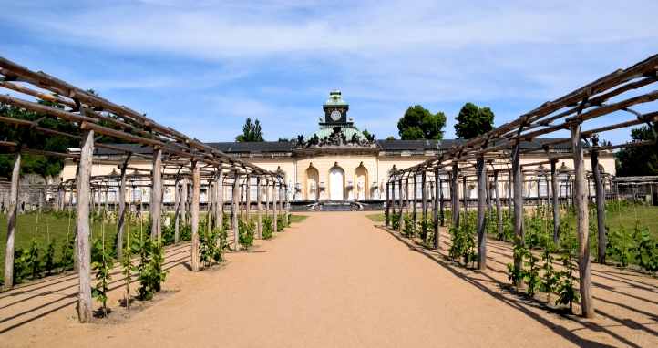
<svg viewBox="0 0 658 348">
<path fill-rule="evenodd" d="M 416 104 L 455 138 L 466 102 L 501 125 L 658 53 L 656 13 L 655 0 L 0 0 L 0 56 L 203 141 L 232 141 L 248 117 L 266 140 L 313 133 L 336 88 L 377 138 L 397 138 Z"/>
</svg>

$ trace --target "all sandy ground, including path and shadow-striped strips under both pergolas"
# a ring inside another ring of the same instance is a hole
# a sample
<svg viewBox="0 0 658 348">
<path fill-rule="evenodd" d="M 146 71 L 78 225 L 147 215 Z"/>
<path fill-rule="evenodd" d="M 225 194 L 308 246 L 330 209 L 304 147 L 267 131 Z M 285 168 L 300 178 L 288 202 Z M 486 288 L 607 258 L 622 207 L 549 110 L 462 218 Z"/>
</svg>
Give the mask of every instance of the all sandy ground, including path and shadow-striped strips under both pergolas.
<svg viewBox="0 0 658 348">
<path fill-rule="evenodd" d="M 593 265 L 597 317 L 583 320 L 510 292 L 506 243 L 469 271 L 365 213 L 309 215 L 208 271 L 170 248 L 166 293 L 128 314 L 117 272 L 113 312 L 92 324 L 77 322 L 75 274 L 2 293 L 0 346 L 658 346 L 655 278 Z"/>
</svg>

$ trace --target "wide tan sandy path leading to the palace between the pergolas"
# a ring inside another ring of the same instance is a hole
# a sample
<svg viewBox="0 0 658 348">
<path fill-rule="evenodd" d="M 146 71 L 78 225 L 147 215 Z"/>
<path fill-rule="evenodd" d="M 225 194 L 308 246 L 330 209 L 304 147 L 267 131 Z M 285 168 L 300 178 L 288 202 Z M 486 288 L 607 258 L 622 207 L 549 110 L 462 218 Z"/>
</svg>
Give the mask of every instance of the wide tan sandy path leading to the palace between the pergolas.
<svg viewBox="0 0 658 348">
<path fill-rule="evenodd" d="M 172 268 L 166 289 L 178 292 L 127 322 L 80 325 L 69 305 L 6 331 L 0 345 L 574 345 L 569 335 L 410 250 L 364 213 L 309 215 L 254 252 L 229 254 L 220 270 Z M 124 311 L 119 292 L 112 306 Z M 0 297 L 0 308 L 17 298 Z"/>
</svg>

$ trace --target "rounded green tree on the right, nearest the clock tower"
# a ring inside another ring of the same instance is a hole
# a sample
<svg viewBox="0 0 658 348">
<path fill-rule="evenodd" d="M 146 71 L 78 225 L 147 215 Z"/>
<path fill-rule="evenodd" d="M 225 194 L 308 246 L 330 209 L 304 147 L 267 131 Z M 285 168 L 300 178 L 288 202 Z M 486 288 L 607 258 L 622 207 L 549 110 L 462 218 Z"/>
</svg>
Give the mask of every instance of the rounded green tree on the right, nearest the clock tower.
<svg viewBox="0 0 658 348">
<path fill-rule="evenodd" d="M 405 116 L 397 121 L 398 134 L 403 140 L 440 140 L 444 127 L 446 115 L 443 112 L 432 114 L 419 105 L 408 107 Z"/>
</svg>

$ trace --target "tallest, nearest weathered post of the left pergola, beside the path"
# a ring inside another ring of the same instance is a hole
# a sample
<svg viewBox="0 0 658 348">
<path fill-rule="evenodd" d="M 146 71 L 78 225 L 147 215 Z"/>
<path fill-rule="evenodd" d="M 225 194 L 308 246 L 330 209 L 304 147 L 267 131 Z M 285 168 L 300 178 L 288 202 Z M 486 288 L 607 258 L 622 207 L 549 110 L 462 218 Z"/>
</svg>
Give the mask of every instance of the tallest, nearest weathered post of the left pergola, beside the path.
<svg viewBox="0 0 658 348">
<path fill-rule="evenodd" d="M 89 193 L 91 188 L 92 156 L 94 155 L 94 131 L 84 130 L 80 144 L 80 160 L 76 179 L 77 186 L 77 319 L 91 322 L 93 306 L 91 302 L 91 245 L 89 243 Z"/>
</svg>

